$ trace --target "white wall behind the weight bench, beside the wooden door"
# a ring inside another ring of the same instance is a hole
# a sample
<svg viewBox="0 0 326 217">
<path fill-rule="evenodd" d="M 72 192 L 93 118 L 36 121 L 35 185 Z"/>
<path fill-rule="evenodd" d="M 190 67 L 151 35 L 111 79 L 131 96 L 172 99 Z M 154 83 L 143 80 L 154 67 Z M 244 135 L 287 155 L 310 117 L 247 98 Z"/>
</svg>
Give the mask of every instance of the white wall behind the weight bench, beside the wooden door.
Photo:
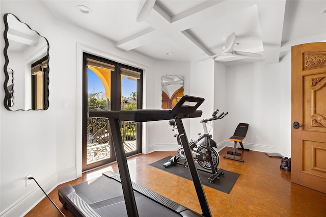
<svg viewBox="0 0 326 217">
<path fill-rule="evenodd" d="M 238 123 L 249 123 L 246 148 L 290 155 L 290 119 L 284 116 L 291 109 L 291 70 L 287 67 L 289 60 L 283 61 L 282 70 L 281 64 L 264 63 L 227 67 L 226 139 L 233 135 Z"/>
</svg>

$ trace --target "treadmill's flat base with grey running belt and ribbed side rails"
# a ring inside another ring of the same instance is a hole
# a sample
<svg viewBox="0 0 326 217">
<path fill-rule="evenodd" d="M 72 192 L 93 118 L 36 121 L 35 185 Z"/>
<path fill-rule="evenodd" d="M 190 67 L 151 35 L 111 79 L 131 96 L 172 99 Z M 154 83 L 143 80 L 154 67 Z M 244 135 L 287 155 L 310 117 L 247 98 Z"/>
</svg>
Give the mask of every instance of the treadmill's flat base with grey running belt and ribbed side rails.
<svg viewBox="0 0 326 217">
<path fill-rule="evenodd" d="M 70 185 L 62 187 L 73 188 L 73 193 L 69 193 L 67 198 L 79 197 L 80 199 L 78 199 L 77 203 L 86 204 L 85 206 L 88 207 L 88 209 L 85 209 L 85 213 L 71 209 L 73 206 L 79 208 L 80 205 L 78 206 L 78 204 L 73 204 L 75 202 L 67 201 L 66 197 L 64 197 L 66 194 L 65 190 L 62 188 L 59 189 L 59 198 L 74 216 L 127 216 L 122 186 L 119 181 L 120 176 L 109 171 L 96 179 L 77 184 L 73 187 Z M 132 186 L 139 216 L 201 216 L 197 212 L 162 197 L 137 183 L 132 182 Z"/>
</svg>

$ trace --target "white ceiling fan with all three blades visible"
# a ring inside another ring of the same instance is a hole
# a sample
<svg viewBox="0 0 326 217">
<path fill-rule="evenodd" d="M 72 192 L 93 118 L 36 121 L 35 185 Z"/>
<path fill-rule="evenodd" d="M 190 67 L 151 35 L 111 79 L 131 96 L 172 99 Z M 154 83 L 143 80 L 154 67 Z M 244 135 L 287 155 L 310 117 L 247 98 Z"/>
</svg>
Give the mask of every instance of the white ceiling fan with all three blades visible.
<svg viewBox="0 0 326 217">
<path fill-rule="evenodd" d="M 235 33 L 232 33 L 231 35 L 229 35 L 226 38 L 225 44 L 224 44 L 224 47 L 223 47 L 223 50 L 222 50 L 221 53 L 219 53 L 218 55 L 213 55 L 213 56 L 207 57 L 207 58 L 199 60 L 199 61 L 207 60 L 207 59 L 218 57 L 218 56 L 225 56 L 226 57 L 226 56 L 231 56 L 231 55 L 246 56 L 246 57 L 262 57 L 258 53 L 251 53 L 251 52 L 233 50 L 233 47 L 235 45 L 234 41 L 235 41 Z M 197 61 L 197 62 L 199 62 L 199 61 Z"/>
</svg>

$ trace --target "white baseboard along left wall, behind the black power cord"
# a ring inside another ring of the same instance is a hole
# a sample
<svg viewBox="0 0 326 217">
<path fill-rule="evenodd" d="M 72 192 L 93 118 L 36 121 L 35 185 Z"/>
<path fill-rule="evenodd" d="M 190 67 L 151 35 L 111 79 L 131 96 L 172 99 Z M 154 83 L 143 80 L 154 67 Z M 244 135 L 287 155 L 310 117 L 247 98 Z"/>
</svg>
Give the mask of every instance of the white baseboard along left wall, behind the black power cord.
<svg viewBox="0 0 326 217">
<path fill-rule="evenodd" d="M 35 179 L 37 180 L 37 178 Z M 46 194 L 49 194 L 59 184 L 74 179 L 76 179 L 76 168 L 69 168 L 59 173 L 51 175 L 43 182 L 40 182 L 39 180 L 37 180 L 37 182 L 41 185 L 44 192 L 46 192 Z M 17 200 L 16 203 L 12 204 L 12 206 L 8 207 L 3 212 L 1 212 L 0 217 L 24 216 L 38 203 L 40 203 L 43 198 L 46 197 L 34 180 L 32 180 L 32 184 L 35 185 L 35 187 L 33 187 L 33 189 L 28 194 L 22 196 L 19 200 Z"/>
</svg>

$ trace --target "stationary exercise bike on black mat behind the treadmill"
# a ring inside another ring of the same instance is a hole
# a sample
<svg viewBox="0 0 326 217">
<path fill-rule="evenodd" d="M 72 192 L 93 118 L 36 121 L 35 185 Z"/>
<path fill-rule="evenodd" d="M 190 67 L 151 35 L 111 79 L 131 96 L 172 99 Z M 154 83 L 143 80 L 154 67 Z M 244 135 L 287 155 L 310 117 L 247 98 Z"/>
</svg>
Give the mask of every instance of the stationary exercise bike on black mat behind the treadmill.
<svg viewBox="0 0 326 217">
<path fill-rule="evenodd" d="M 200 135 L 199 133 L 200 137 L 196 141 L 191 140 L 189 142 L 189 146 L 192 150 L 194 160 L 196 160 L 202 168 L 206 170 L 211 170 L 212 175 L 208 178 L 210 183 L 213 183 L 215 179 L 219 180 L 220 174 L 224 175 L 223 170 L 218 169 L 218 165 L 220 162 L 220 155 L 214 149 L 214 148 L 218 148 L 218 146 L 216 145 L 215 141 L 211 139 L 211 135 L 209 134 L 206 126 L 207 122 L 222 119 L 228 114 L 223 112 L 220 116 L 216 117 L 218 112 L 219 110 L 215 110 L 212 114 L 213 116 L 212 118 L 204 119 L 200 121 L 200 123 L 203 124 L 204 134 Z M 170 126 L 172 126 L 173 131 L 177 131 L 177 127 L 175 125 L 174 120 L 170 120 L 169 124 Z M 177 151 L 178 154 L 173 156 L 168 162 L 166 162 L 163 165 L 163 167 L 165 168 L 173 164 L 177 164 L 179 159 L 185 160 L 185 154 L 178 132 L 174 134 L 174 137 L 177 138 L 177 142 L 179 145 Z M 183 166 L 187 167 L 187 161 L 184 161 Z"/>
</svg>

